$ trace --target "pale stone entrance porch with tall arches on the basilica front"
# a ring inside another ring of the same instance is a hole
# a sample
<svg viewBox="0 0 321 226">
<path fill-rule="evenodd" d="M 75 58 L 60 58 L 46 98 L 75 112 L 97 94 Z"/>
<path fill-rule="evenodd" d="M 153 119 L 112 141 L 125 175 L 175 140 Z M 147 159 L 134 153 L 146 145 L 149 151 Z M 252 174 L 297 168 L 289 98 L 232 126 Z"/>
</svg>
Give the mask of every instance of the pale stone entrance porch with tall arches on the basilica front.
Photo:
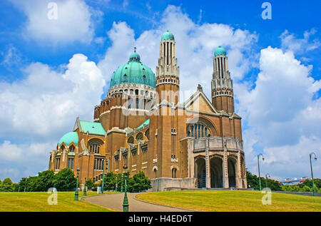
<svg viewBox="0 0 321 226">
<path fill-rule="evenodd" d="M 188 139 L 188 177 L 197 188 L 247 188 L 243 143 L 237 138 Z"/>
</svg>

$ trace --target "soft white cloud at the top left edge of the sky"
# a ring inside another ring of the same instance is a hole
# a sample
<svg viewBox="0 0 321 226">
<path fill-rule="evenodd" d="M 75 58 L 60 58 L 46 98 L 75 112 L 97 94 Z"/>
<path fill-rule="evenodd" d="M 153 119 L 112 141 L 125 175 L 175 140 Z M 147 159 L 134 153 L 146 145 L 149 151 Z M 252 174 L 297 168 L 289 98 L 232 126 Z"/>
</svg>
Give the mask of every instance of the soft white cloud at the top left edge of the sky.
<svg viewBox="0 0 321 226">
<path fill-rule="evenodd" d="M 27 21 L 24 34 L 41 43 L 91 42 L 93 39 L 93 11 L 83 0 L 19 1 L 11 0 L 24 14 Z M 49 18 L 49 2 L 54 2 L 57 18 Z"/>
</svg>

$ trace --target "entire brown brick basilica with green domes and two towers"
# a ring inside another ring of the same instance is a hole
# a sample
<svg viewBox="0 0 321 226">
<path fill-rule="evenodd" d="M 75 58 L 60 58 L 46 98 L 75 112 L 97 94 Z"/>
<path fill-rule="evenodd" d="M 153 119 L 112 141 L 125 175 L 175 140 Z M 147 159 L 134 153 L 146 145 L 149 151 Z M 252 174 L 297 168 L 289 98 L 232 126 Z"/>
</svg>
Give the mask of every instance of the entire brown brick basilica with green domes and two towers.
<svg viewBox="0 0 321 226">
<path fill-rule="evenodd" d="M 126 169 L 131 176 L 145 173 L 154 191 L 247 188 L 241 118 L 234 112 L 225 49 L 218 46 L 213 53 L 210 99 L 198 85 L 179 103 L 180 68 L 170 31 L 161 36 L 155 72 L 135 49 L 113 71 L 93 121 L 76 118 L 50 152 L 49 169 L 71 168 L 75 175 L 78 169 L 81 186 Z"/>
</svg>

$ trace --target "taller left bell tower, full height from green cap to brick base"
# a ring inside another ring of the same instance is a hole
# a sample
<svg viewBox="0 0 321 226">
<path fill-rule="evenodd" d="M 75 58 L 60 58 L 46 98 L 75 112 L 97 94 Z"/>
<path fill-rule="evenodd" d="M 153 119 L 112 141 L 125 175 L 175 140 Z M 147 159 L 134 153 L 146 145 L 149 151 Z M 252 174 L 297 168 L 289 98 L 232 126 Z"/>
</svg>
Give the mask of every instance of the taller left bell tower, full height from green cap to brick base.
<svg viewBox="0 0 321 226">
<path fill-rule="evenodd" d="M 179 178 L 182 171 L 179 164 L 179 138 L 185 137 L 184 130 L 178 130 L 184 125 L 185 118 L 178 115 L 179 101 L 179 67 L 175 57 L 175 39 L 172 33 L 166 31 L 161 36 L 160 57 L 156 66 L 156 105 L 150 116 L 148 151 L 153 151 L 153 168 L 156 177 Z M 160 179 L 161 180 L 161 179 Z"/>
</svg>

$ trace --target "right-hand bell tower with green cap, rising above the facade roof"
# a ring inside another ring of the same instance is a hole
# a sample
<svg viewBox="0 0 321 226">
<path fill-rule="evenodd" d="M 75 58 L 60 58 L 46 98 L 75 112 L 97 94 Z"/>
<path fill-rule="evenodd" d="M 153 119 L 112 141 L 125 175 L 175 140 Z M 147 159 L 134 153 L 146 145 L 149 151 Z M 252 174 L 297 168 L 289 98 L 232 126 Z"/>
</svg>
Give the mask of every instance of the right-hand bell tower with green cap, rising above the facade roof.
<svg viewBox="0 0 321 226">
<path fill-rule="evenodd" d="M 228 57 L 221 46 L 213 57 L 212 103 L 218 111 L 234 113 L 233 81 L 228 71 Z"/>
</svg>

